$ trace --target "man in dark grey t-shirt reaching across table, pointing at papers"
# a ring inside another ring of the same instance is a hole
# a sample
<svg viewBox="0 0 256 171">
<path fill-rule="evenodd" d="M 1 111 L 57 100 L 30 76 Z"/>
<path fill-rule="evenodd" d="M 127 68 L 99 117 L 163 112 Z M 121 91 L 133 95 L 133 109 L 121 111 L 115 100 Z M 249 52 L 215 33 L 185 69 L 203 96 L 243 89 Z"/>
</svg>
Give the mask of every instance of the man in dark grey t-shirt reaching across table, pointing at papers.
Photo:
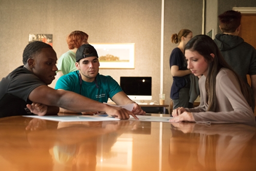
<svg viewBox="0 0 256 171">
<path fill-rule="evenodd" d="M 119 119 L 133 112 L 103 104 L 70 91 L 48 87 L 55 79 L 57 55 L 53 48 L 35 41 L 23 52 L 23 66 L 0 82 L 0 118 L 16 115 L 56 115 L 59 107 L 76 111 L 105 111 Z M 32 112 L 32 113 L 31 113 Z"/>
</svg>

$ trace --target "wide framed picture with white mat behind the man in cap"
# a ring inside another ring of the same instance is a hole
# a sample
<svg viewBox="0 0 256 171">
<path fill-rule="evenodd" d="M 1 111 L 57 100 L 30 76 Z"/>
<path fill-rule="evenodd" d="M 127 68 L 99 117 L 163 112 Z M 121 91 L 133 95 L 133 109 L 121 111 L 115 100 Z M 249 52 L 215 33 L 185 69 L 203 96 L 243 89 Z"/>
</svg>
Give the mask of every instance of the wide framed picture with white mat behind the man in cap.
<svg viewBox="0 0 256 171">
<path fill-rule="evenodd" d="M 100 69 L 134 69 L 135 43 L 90 43 L 99 55 Z"/>
</svg>

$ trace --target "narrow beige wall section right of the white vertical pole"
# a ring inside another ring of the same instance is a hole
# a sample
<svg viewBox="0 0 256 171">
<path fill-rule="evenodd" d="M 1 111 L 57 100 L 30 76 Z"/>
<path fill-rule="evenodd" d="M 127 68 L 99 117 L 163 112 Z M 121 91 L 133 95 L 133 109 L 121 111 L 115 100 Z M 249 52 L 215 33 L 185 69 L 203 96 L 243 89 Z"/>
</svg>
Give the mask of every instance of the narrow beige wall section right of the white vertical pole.
<svg viewBox="0 0 256 171">
<path fill-rule="evenodd" d="M 171 35 L 185 28 L 190 29 L 193 36 L 202 33 L 203 1 L 166 0 L 164 10 L 163 91 L 168 100 L 166 104 L 170 104 L 173 79 L 169 59 L 172 50 L 177 47 L 177 44 L 171 43 Z"/>
</svg>

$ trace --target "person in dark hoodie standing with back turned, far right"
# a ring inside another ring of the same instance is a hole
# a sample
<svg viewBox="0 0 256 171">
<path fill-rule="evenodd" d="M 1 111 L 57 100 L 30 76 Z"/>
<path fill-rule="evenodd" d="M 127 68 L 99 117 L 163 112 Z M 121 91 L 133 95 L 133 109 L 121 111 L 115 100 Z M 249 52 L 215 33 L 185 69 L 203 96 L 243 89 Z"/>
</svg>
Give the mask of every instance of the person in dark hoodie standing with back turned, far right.
<svg viewBox="0 0 256 171">
<path fill-rule="evenodd" d="M 241 28 L 241 12 L 226 11 L 218 16 L 220 29 L 223 33 L 216 34 L 214 42 L 221 50 L 225 61 L 240 75 L 248 87 L 246 75 L 250 75 L 251 98 L 256 99 L 256 50 L 244 42 L 239 36 Z M 252 108 L 254 109 L 253 103 Z"/>
</svg>

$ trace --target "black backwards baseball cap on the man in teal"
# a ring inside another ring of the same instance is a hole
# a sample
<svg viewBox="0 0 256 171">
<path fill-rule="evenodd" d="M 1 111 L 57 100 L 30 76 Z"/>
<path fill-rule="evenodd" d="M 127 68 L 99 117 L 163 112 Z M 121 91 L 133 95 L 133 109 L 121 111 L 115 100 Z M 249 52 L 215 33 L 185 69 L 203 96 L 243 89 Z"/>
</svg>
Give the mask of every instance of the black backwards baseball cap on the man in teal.
<svg viewBox="0 0 256 171">
<path fill-rule="evenodd" d="M 76 61 L 78 62 L 81 59 L 92 57 L 92 56 L 96 56 L 97 58 L 99 58 L 96 49 L 92 45 L 84 44 L 77 49 Z"/>
</svg>

